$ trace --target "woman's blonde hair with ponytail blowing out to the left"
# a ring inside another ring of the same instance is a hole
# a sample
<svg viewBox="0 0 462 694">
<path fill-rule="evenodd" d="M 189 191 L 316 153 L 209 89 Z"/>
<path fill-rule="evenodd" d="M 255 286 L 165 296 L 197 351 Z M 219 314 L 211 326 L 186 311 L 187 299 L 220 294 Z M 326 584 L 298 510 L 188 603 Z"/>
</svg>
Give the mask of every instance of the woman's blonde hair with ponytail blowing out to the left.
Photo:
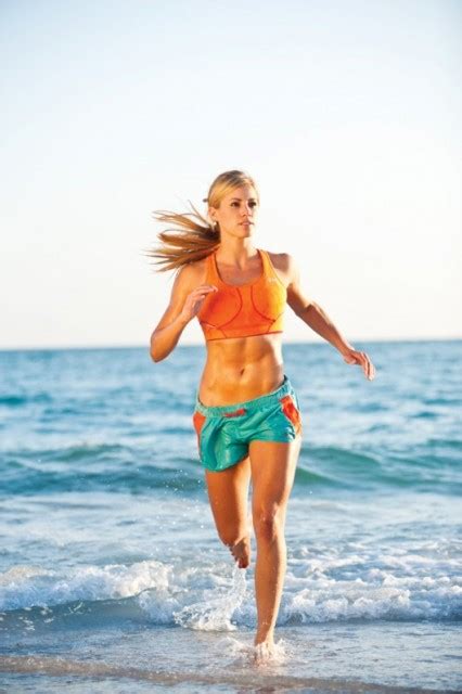
<svg viewBox="0 0 462 694">
<path fill-rule="evenodd" d="M 255 189 L 258 200 L 257 187 L 248 174 L 238 170 L 224 171 L 214 180 L 203 202 L 208 203 L 208 207 L 218 208 L 228 193 L 248 184 Z M 155 268 L 159 272 L 179 270 L 183 265 L 202 260 L 220 245 L 219 223 L 203 217 L 191 201 L 188 202 L 192 213 L 153 211 L 157 221 L 175 224 L 158 233 L 161 244 L 146 252 L 149 257 L 156 258 L 153 265 L 161 266 Z"/>
</svg>

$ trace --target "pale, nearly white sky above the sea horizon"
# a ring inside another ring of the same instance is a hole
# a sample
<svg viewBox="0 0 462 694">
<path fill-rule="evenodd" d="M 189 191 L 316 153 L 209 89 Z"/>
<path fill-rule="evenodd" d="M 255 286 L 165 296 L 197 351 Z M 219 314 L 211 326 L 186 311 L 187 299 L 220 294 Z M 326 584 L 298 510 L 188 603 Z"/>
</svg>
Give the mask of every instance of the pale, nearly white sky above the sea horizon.
<svg viewBox="0 0 462 694">
<path fill-rule="evenodd" d="M 234 168 L 350 343 L 461 338 L 461 34 L 459 0 L 2 0 L 0 348 L 147 347 L 152 211 Z"/>
</svg>

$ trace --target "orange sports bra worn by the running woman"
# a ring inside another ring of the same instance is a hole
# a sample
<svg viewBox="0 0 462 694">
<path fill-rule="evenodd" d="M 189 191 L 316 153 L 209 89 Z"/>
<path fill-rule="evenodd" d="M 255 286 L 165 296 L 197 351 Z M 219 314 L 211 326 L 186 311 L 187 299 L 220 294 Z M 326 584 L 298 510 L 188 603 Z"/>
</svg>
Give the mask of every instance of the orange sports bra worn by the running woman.
<svg viewBox="0 0 462 694">
<path fill-rule="evenodd" d="M 246 284 L 227 284 L 218 274 L 216 252 L 207 256 L 205 284 L 215 284 L 197 313 L 205 339 L 282 333 L 287 291 L 266 250 L 257 248 L 264 271 Z"/>
</svg>

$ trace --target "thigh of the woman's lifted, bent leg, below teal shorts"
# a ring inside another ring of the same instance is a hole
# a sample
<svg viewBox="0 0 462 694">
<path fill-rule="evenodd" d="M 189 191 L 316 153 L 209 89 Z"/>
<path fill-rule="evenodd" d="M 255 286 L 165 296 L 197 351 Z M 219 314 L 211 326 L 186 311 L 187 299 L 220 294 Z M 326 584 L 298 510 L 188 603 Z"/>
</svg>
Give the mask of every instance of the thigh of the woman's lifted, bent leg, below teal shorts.
<svg viewBox="0 0 462 694">
<path fill-rule="evenodd" d="M 248 455 L 220 472 L 206 470 L 205 480 L 218 535 L 223 542 L 233 543 L 247 534 Z"/>
</svg>

